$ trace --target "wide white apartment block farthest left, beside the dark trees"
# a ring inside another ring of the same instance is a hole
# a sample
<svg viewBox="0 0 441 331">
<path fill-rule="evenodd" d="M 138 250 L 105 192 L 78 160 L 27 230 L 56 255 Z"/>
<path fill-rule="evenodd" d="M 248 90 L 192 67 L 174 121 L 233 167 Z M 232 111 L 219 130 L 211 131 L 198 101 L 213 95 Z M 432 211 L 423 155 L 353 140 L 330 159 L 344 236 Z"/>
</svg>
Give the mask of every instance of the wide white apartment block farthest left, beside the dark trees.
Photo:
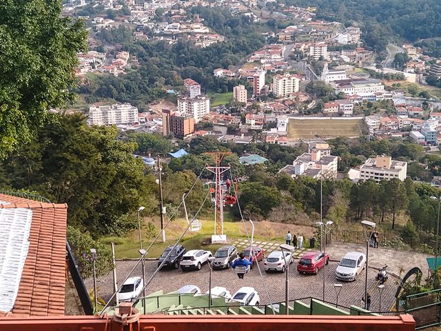
<svg viewBox="0 0 441 331">
<path fill-rule="evenodd" d="M 89 124 L 91 126 L 112 126 L 139 123 L 138 108 L 130 103 L 111 106 L 90 106 Z"/>
</svg>

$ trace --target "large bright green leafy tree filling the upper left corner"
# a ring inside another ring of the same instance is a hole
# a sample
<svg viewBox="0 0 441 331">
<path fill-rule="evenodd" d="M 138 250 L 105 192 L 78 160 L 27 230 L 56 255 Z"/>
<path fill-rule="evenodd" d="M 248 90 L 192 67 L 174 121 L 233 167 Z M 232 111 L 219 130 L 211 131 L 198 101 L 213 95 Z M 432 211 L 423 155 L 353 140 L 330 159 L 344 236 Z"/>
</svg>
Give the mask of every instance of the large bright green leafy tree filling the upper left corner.
<svg viewBox="0 0 441 331">
<path fill-rule="evenodd" d="M 0 4 L 0 158 L 73 100 L 77 52 L 86 50 L 82 21 L 61 17 L 61 1 Z"/>
</svg>

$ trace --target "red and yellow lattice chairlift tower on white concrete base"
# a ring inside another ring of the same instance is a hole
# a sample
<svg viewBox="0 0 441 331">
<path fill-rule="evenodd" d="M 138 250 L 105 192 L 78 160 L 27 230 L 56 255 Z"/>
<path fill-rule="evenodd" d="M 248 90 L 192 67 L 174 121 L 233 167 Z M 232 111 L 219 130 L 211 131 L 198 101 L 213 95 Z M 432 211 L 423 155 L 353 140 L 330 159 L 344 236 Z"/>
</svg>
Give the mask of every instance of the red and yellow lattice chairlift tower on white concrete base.
<svg viewBox="0 0 441 331">
<path fill-rule="evenodd" d="M 232 154 L 231 152 L 207 152 L 204 153 L 212 157 L 214 163 L 216 164 L 214 167 L 207 165 L 205 168 L 210 172 L 214 173 L 214 234 L 212 235 L 212 243 L 226 243 L 227 236 L 223 234 L 223 205 L 224 205 L 224 193 L 222 185 L 220 185 L 220 180 L 222 174 L 227 172 L 230 167 L 222 167 L 220 163 L 222 162 L 223 157 L 227 154 Z"/>
</svg>

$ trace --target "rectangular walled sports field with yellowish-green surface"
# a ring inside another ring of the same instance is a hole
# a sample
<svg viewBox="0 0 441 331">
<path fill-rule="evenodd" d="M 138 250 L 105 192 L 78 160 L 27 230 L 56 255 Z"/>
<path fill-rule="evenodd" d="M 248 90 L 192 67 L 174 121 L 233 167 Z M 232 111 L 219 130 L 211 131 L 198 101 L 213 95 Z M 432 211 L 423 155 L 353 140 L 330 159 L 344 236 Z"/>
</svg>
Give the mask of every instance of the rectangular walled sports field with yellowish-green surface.
<svg viewBox="0 0 441 331">
<path fill-rule="evenodd" d="M 363 134 L 367 134 L 367 126 L 362 117 L 291 117 L 288 123 L 288 138 L 291 139 L 358 137 Z"/>
</svg>

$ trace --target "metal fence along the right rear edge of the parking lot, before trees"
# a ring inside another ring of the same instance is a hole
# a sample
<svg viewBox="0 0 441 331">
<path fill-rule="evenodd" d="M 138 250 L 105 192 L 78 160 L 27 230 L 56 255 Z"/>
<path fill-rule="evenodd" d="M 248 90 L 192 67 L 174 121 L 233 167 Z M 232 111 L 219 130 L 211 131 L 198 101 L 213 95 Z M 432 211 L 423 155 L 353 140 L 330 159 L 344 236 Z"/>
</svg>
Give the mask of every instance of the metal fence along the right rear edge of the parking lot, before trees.
<svg viewBox="0 0 441 331">
<path fill-rule="evenodd" d="M 340 243 L 366 243 L 366 234 L 362 231 L 335 230 L 327 234 L 327 242 L 337 241 Z M 394 250 L 411 250 L 426 254 L 434 254 L 436 240 L 434 237 L 406 238 L 395 234 L 380 233 L 378 246 L 392 248 Z"/>
</svg>

